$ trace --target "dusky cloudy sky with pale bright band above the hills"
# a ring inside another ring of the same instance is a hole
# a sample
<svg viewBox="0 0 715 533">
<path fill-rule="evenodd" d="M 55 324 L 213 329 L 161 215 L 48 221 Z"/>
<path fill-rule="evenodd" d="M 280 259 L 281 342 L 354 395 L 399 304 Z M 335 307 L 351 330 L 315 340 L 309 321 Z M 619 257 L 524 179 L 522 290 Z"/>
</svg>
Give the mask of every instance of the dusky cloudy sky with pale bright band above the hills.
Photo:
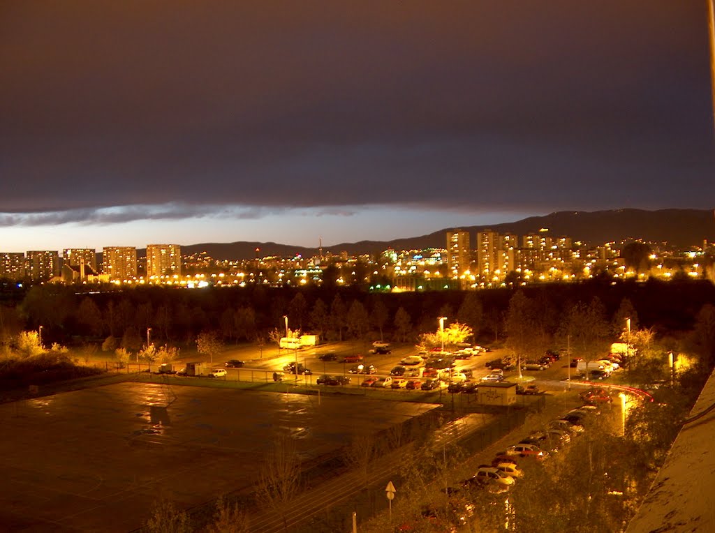
<svg viewBox="0 0 715 533">
<path fill-rule="evenodd" d="M 712 208 L 704 0 L 0 6 L 0 251 Z"/>
</svg>

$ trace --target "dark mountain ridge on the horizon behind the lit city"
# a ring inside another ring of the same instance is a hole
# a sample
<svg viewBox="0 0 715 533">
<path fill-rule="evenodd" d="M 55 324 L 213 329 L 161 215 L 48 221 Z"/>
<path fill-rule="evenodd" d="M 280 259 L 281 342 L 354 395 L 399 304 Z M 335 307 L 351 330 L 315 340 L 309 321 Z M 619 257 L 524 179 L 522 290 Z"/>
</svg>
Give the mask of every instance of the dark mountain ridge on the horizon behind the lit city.
<svg viewBox="0 0 715 533">
<path fill-rule="evenodd" d="M 701 246 L 703 241 L 715 241 L 714 212 L 705 209 L 661 209 L 645 211 L 643 209 L 616 209 L 612 211 L 558 211 L 546 216 L 530 216 L 516 222 L 491 224 L 489 226 L 461 226 L 458 229 L 469 231 L 472 246 L 475 246 L 476 231 L 493 229 L 499 233 L 512 233 L 519 236 L 548 228 L 551 236 L 570 236 L 573 241 L 588 244 L 601 244 L 610 241 L 643 239 L 651 242 L 667 242 L 674 246 Z M 445 228 L 430 233 L 392 241 L 344 242 L 323 246 L 323 252 L 340 254 L 347 251 L 350 255 L 375 254 L 386 249 L 412 250 L 425 248 L 444 248 L 445 232 L 457 228 Z M 260 251 L 256 252 L 256 249 Z M 256 256 L 295 256 L 309 257 L 317 254 L 317 248 L 305 248 L 275 242 L 204 243 L 182 245 L 182 254 L 194 254 L 206 251 L 214 259 L 253 259 Z"/>
</svg>

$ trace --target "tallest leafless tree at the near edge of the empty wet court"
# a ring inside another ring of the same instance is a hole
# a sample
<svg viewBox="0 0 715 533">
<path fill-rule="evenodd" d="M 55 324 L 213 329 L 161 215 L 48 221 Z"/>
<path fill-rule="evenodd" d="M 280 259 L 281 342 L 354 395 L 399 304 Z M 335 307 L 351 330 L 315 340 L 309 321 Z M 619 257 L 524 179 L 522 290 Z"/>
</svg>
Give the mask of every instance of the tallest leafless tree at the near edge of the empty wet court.
<svg viewBox="0 0 715 533">
<path fill-rule="evenodd" d="M 287 504 L 300 488 L 300 460 L 288 435 L 273 440 L 261 465 L 257 499 L 278 514 L 287 529 Z"/>
</svg>

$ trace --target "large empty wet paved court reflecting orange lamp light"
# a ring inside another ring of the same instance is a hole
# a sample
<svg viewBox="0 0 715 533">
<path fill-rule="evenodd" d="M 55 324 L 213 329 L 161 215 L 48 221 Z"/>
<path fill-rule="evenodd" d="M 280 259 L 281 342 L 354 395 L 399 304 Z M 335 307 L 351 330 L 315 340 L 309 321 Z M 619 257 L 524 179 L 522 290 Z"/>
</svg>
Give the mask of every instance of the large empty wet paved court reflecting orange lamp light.
<svg viewBox="0 0 715 533">
<path fill-rule="evenodd" d="M 0 405 L 0 530 L 127 532 L 247 487 L 277 434 L 304 459 L 433 404 L 122 383 Z"/>
</svg>

